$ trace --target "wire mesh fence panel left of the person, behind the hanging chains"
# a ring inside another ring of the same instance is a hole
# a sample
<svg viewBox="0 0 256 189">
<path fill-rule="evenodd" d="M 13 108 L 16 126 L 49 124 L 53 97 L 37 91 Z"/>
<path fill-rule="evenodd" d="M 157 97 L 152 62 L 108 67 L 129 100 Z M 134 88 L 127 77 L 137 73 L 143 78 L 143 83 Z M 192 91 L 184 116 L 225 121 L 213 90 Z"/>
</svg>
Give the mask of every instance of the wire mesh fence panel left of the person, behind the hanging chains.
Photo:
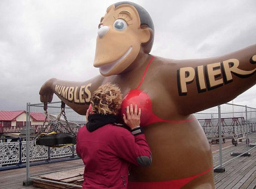
<svg viewBox="0 0 256 189">
<path fill-rule="evenodd" d="M 71 126 L 73 123 L 76 124 L 76 128 L 71 129 L 74 133 L 77 133 L 79 129 L 79 126 L 77 125 L 85 124 L 85 116 L 79 115 L 68 106 L 64 108 L 64 112 L 68 124 Z M 36 135 L 42 131 L 52 131 L 51 119 L 55 119 L 58 116 L 61 116 L 60 120 L 62 119 L 62 121 L 64 121 L 59 127 L 67 127 L 65 118 L 61 114 L 61 102 L 48 103 L 47 119 L 44 111 L 44 104 L 28 104 L 28 113 L 31 115 L 28 116 L 29 118 L 31 117 L 31 119 L 37 115 L 37 119 L 28 120 L 30 128 L 35 129 L 32 133 L 35 133 Z M 32 115 L 34 115 L 34 117 Z M 61 132 L 67 131 L 67 129 L 64 128 L 53 128 L 53 130 L 54 129 Z M 28 142 L 29 145 L 27 146 L 27 150 L 29 151 L 29 161 L 27 161 L 27 180 L 33 179 L 34 185 L 38 187 L 42 186 L 42 184 L 45 185 L 46 183 L 48 185 L 49 183 L 55 183 L 69 185 L 70 187 L 81 187 L 81 183 L 83 182 L 84 163 L 76 155 L 76 145 L 53 148 L 44 145 L 35 145 L 34 141 Z M 36 166 L 35 164 L 29 164 L 35 162 L 35 158 L 38 157 L 40 157 L 39 159 L 41 161 L 45 160 L 47 163 L 40 163 Z"/>
</svg>

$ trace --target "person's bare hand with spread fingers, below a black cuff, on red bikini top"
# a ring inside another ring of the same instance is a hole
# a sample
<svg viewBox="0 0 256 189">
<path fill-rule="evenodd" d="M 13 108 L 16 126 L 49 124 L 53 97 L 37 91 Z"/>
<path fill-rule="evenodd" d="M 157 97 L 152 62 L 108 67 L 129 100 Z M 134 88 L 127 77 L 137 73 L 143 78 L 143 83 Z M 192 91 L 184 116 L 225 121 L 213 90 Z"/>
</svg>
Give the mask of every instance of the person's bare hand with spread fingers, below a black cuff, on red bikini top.
<svg viewBox="0 0 256 189">
<path fill-rule="evenodd" d="M 135 105 L 135 108 L 133 110 L 133 105 L 131 104 L 130 107 L 126 107 L 126 115 L 123 113 L 123 119 L 126 125 L 128 125 L 131 129 L 134 129 L 138 126 L 140 126 L 140 115 L 141 115 L 141 109 L 137 105 Z"/>
</svg>

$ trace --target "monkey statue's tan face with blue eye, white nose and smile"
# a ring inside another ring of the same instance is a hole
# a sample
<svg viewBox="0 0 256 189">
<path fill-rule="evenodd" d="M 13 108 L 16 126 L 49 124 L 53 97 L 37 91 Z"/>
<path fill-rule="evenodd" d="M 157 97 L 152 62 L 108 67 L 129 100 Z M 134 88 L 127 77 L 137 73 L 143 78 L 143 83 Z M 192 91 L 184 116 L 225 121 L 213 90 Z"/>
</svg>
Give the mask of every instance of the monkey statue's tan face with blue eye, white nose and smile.
<svg viewBox="0 0 256 189">
<path fill-rule="evenodd" d="M 99 67 L 103 76 L 122 73 L 149 39 L 150 32 L 140 28 L 140 17 L 133 6 L 111 5 L 99 24 L 93 66 Z"/>
</svg>

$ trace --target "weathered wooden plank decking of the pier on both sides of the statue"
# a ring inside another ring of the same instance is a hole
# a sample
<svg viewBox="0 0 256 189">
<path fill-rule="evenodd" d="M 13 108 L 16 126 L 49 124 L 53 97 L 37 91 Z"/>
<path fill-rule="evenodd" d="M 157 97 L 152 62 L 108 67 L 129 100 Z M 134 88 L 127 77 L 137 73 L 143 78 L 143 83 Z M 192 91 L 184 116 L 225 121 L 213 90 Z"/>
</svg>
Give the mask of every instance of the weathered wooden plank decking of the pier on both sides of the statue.
<svg viewBox="0 0 256 189">
<path fill-rule="evenodd" d="M 250 143 L 256 143 L 256 133 L 249 136 Z M 253 139 L 254 138 L 254 139 Z M 222 143 L 223 144 L 223 143 Z M 231 152 L 244 152 L 246 149 L 245 140 L 239 142 L 238 146 L 231 144 L 231 140 L 226 139 L 223 144 L 222 162 L 232 159 Z M 250 148 L 249 148 L 250 149 Z M 214 173 L 214 182 L 216 189 L 254 189 L 256 188 L 256 148 L 250 151 L 250 157 L 238 157 L 224 166 L 224 173 Z M 219 164 L 218 144 L 212 145 L 213 164 Z M 81 163 L 81 162 L 80 162 Z M 60 165 L 47 164 L 50 170 Z M 58 166 L 57 166 L 58 165 Z M 64 165 L 62 163 L 61 165 Z M 78 160 L 69 161 L 70 167 L 78 166 Z M 46 165 L 44 165 L 46 166 Z M 34 168 L 33 173 L 40 172 L 40 166 Z M 80 174 L 81 170 L 79 170 Z M 52 174 L 51 174 L 52 175 Z M 26 168 L 13 169 L 0 172 L 0 189 L 35 189 L 35 186 L 23 186 L 23 180 L 26 180 Z"/>
</svg>

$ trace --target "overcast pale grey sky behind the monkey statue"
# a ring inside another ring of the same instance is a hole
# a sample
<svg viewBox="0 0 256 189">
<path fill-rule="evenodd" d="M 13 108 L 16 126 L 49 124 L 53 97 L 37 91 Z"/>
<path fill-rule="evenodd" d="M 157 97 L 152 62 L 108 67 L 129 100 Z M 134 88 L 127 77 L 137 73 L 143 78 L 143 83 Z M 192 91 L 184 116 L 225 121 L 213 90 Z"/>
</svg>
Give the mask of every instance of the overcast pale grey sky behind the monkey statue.
<svg viewBox="0 0 256 189">
<path fill-rule="evenodd" d="M 52 77 L 86 81 L 100 18 L 113 0 L 0 0 L 0 110 L 39 103 Z M 134 0 L 155 26 L 151 54 L 210 58 L 256 44 L 255 0 Z M 256 108 L 256 86 L 234 99 Z M 53 101 L 59 101 L 55 96 Z"/>
</svg>

